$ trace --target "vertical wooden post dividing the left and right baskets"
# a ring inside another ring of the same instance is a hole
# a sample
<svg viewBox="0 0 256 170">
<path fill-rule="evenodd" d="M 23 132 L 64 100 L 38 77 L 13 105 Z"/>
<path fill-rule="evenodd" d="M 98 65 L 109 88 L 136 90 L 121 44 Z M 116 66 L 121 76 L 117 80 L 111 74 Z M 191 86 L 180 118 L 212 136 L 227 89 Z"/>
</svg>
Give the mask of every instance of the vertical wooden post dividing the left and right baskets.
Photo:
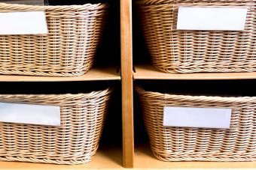
<svg viewBox="0 0 256 170">
<path fill-rule="evenodd" d="M 133 167 L 133 40 L 132 0 L 120 0 L 123 166 Z"/>
</svg>

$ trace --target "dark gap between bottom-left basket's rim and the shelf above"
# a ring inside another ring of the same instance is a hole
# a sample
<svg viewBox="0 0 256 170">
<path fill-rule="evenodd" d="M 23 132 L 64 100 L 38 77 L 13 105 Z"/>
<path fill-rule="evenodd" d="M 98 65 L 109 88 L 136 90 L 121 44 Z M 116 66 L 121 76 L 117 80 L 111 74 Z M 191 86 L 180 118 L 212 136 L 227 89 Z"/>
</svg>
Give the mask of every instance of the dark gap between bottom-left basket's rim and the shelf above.
<svg viewBox="0 0 256 170">
<path fill-rule="evenodd" d="M 1 82 L 0 94 L 79 94 L 113 88 L 117 81 Z"/>
</svg>

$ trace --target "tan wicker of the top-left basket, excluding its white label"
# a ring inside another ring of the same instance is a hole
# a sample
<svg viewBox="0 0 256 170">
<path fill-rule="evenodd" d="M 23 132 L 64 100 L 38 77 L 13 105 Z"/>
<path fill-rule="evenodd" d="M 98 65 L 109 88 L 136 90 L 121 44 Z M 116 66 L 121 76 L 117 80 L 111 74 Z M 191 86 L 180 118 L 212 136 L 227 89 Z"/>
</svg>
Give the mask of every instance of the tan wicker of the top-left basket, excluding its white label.
<svg viewBox="0 0 256 170">
<path fill-rule="evenodd" d="M 45 10 L 49 34 L 0 36 L 0 73 L 81 76 L 93 58 L 107 4 L 32 6 L 0 3 L 1 11 Z"/>
</svg>

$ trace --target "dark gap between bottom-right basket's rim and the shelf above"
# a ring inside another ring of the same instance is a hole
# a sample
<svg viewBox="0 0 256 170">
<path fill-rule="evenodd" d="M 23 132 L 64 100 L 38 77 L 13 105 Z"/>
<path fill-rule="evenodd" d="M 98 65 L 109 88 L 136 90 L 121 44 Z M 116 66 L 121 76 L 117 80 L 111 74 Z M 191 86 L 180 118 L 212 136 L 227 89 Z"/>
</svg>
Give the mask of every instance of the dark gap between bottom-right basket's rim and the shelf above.
<svg viewBox="0 0 256 170">
<path fill-rule="evenodd" d="M 256 80 L 140 80 L 145 91 L 167 94 L 256 97 Z"/>
</svg>

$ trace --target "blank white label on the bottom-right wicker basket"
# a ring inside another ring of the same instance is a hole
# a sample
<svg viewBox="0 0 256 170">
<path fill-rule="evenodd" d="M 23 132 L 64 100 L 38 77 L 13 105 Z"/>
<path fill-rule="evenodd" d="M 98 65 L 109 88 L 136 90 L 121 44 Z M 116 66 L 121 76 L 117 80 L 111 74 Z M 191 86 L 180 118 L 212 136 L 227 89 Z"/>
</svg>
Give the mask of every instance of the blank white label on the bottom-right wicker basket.
<svg viewBox="0 0 256 170">
<path fill-rule="evenodd" d="M 163 126 L 230 128 L 232 109 L 164 107 Z"/>
</svg>

